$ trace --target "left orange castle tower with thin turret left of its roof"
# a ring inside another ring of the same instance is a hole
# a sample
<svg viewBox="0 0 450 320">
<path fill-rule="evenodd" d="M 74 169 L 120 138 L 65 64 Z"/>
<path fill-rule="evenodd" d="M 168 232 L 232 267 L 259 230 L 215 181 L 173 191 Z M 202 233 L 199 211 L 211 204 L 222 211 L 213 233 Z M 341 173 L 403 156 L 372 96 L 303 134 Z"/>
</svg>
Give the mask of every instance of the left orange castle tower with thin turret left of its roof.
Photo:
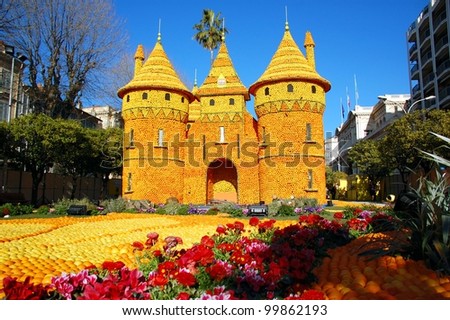
<svg viewBox="0 0 450 320">
<path fill-rule="evenodd" d="M 181 82 L 161 44 L 147 61 L 135 55 L 133 79 L 118 90 L 124 120 L 123 197 L 163 203 L 183 201 L 184 139 L 192 93 Z"/>
</svg>

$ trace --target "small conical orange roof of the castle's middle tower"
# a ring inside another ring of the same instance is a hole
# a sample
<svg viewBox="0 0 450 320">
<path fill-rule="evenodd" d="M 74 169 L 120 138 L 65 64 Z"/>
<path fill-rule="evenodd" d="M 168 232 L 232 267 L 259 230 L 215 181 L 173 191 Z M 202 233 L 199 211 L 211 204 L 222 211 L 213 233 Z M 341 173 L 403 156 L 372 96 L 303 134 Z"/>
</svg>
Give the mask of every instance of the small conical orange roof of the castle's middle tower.
<svg viewBox="0 0 450 320">
<path fill-rule="evenodd" d="M 222 42 L 208 76 L 198 88 L 197 96 L 224 94 L 242 94 L 246 100 L 250 99 L 247 88 L 242 84 L 234 69 L 227 46 L 225 42 Z"/>
</svg>

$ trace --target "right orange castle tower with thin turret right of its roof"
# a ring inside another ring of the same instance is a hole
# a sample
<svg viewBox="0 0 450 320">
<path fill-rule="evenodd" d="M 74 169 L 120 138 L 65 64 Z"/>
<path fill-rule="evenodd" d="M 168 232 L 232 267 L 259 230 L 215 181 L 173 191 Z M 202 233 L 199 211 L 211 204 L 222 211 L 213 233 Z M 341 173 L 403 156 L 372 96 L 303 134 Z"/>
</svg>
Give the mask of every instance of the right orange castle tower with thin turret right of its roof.
<svg viewBox="0 0 450 320">
<path fill-rule="evenodd" d="M 325 202 L 323 112 L 330 83 L 315 70 L 314 42 L 302 54 L 286 22 L 281 43 L 262 76 L 249 88 L 255 96 L 260 148 L 260 197 L 316 198 Z"/>
</svg>

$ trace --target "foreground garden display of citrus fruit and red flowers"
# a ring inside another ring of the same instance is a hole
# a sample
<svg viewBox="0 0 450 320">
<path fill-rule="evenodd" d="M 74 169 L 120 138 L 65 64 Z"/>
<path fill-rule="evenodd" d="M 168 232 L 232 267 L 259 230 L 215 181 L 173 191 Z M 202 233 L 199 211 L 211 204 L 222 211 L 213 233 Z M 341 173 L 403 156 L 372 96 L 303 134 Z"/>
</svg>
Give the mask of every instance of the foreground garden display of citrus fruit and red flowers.
<svg viewBox="0 0 450 320">
<path fill-rule="evenodd" d="M 420 261 L 358 256 L 396 233 L 371 232 L 386 215 L 346 214 L 2 221 L 0 280 L 9 299 L 450 298 L 450 277 Z"/>
</svg>

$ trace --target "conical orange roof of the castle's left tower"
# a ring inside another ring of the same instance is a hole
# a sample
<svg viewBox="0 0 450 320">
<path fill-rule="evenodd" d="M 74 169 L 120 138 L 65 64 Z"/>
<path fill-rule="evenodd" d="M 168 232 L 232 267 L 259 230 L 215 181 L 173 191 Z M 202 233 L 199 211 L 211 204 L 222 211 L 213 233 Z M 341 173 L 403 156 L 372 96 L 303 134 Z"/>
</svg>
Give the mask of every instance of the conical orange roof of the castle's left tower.
<svg viewBox="0 0 450 320">
<path fill-rule="evenodd" d="M 180 80 L 159 40 L 134 78 L 127 85 L 120 88 L 117 94 L 122 98 L 130 91 L 145 89 L 178 91 L 187 96 L 189 102 L 195 99 Z"/>
</svg>

